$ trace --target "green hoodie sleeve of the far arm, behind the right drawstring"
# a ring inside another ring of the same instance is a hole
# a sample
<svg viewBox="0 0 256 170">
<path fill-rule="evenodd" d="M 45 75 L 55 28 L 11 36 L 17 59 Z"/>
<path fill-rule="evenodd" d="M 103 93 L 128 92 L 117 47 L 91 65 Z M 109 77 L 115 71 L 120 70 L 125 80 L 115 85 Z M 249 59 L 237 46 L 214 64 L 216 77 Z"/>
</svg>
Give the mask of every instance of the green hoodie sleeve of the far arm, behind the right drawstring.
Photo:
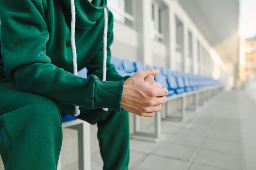
<svg viewBox="0 0 256 170">
<path fill-rule="evenodd" d="M 113 36 L 113 14 L 108 10 L 108 40 L 107 40 L 107 81 L 121 81 L 126 80 L 130 76 L 122 77 L 117 73 L 115 70 L 115 66 L 110 63 L 110 57 L 111 57 L 111 51 L 110 51 L 110 45 L 113 42 L 114 36 Z M 103 31 L 102 31 L 103 33 Z M 94 56 L 93 60 L 86 66 L 88 69 L 88 75 L 93 74 L 97 75 L 100 79 L 103 77 L 103 36 L 102 41 L 99 48 L 99 51 Z"/>
</svg>

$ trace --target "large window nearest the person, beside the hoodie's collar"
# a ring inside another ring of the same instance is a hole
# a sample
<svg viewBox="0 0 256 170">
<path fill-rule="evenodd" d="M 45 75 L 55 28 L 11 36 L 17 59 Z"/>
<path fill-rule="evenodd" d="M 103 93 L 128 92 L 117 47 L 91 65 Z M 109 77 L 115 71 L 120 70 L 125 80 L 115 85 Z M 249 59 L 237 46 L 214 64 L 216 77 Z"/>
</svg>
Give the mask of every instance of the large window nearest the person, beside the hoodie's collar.
<svg viewBox="0 0 256 170">
<path fill-rule="evenodd" d="M 108 7 L 113 13 L 114 20 L 130 27 L 134 25 L 133 0 L 108 0 Z"/>
</svg>

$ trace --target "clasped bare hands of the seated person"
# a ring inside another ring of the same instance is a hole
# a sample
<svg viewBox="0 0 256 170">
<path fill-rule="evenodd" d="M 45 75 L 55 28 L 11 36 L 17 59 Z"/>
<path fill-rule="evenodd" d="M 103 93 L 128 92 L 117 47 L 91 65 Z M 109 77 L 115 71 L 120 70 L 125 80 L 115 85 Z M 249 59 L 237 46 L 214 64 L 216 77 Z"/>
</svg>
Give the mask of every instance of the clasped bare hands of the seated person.
<svg viewBox="0 0 256 170">
<path fill-rule="evenodd" d="M 158 73 L 153 68 L 146 68 L 128 78 L 124 82 L 121 108 L 144 117 L 153 117 L 155 112 L 162 110 L 161 104 L 166 103 L 168 91 L 153 80 L 153 75 Z"/>
</svg>

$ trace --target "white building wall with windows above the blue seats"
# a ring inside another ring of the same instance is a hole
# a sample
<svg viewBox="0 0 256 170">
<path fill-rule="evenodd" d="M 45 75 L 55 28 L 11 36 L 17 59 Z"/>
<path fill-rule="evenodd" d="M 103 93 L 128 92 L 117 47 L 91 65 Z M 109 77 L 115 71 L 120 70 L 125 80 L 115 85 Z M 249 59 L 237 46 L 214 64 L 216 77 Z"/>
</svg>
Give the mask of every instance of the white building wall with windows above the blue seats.
<svg viewBox="0 0 256 170">
<path fill-rule="evenodd" d="M 134 25 L 126 26 L 115 21 L 112 56 L 131 61 L 139 60 L 145 65 L 167 66 L 172 70 L 192 72 L 215 79 L 221 78 L 220 70 L 224 70 L 225 65 L 177 1 L 133 0 L 132 2 Z M 162 42 L 151 38 L 152 3 L 161 7 L 164 37 Z M 181 31 L 176 29 L 177 20 L 182 24 Z M 180 32 L 182 44 L 181 50 L 177 51 L 176 35 Z M 191 57 L 189 57 L 189 32 L 192 35 Z"/>
</svg>

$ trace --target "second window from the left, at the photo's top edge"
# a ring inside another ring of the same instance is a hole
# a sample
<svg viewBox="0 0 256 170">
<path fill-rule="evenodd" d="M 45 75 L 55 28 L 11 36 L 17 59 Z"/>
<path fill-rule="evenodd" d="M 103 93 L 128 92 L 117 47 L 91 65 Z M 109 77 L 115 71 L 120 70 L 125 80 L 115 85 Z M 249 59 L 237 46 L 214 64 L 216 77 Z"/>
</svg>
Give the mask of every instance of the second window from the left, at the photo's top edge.
<svg viewBox="0 0 256 170">
<path fill-rule="evenodd" d="M 151 38 L 153 40 L 157 40 L 159 42 L 163 42 L 164 35 L 163 35 L 163 26 L 162 26 L 162 20 L 163 20 L 163 11 L 162 8 L 159 6 L 157 2 L 152 3 L 152 17 L 151 17 Z"/>
</svg>

